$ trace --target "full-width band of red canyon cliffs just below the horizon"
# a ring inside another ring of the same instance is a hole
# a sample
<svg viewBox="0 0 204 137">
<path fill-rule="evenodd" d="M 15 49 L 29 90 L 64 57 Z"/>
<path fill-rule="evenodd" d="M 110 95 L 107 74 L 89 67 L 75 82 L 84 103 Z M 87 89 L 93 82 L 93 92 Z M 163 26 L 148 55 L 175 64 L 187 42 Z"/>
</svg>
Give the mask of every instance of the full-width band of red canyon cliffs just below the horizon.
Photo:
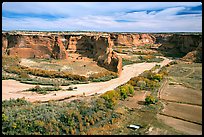
<svg viewBox="0 0 204 137">
<path fill-rule="evenodd" d="M 109 70 L 122 71 L 122 58 L 114 46 L 137 47 L 160 43 L 159 51 L 199 56 L 202 60 L 202 35 L 177 34 L 13 34 L 2 33 L 2 54 L 22 58 L 67 59 L 68 54 L 77 52 L 93 58 L 98 65 Z M 185 58 L 184 58 L 185 59 Z"/>
</svg>

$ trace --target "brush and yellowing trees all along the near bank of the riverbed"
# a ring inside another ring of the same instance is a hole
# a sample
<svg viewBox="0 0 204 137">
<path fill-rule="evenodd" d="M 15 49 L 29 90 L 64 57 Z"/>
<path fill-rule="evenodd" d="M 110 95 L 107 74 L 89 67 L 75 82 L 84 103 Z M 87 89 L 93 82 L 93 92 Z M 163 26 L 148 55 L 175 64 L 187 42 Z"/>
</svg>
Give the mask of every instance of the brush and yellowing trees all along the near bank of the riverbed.
<svg viewBox="0 0 204 137">
<path fill-rule="evenodd" d="M 94 128 L 114 124 L 115 121 L 122 120 L 124 124 L 124 119 L 128 119 L 129 123 L 135 121 L 143 126 L 137 132 L 128 132 L 129 134 L 145 134 L 144 130 L 148 128 L 149 122 L 154 119 L 153 116 L 160 108 L 154 94 L 151 94 L 153 97 L 149 99 L 147 97 L 146 102 L 157 105 L 146 105 L 142 108 L 143 111 L 137 113 L 137 110 L 128 112 L 137 115 L 136 117 L 134 115 L 134 120 L 131 120 L 133 117 L 129 114 L 119 114 L 116 108 L 121 107 L 120 102 L 135 94 L 134 88 L 142 85 L 141 81 L 145 83 L 144 89 L 147 87 L 154 89 L 154 84 L 159 83 L 158 79 L 160 77 L 157 73 L 146 71 L 115 90 L 99 97 L 92 97 L 89 101 L 74 100 L 69 103 L 55 101 L 30 103 L 24 99 L 2 101 L 2 133 L 4 135 L 84 135 L 91 134 Z M 42 89 L 38 86 L 31 90 L 41 92 Z M 153 123 L 156 123 L 156 119 Z M 161 125 L 158 122 L 157 124 Z"/>
</svg>

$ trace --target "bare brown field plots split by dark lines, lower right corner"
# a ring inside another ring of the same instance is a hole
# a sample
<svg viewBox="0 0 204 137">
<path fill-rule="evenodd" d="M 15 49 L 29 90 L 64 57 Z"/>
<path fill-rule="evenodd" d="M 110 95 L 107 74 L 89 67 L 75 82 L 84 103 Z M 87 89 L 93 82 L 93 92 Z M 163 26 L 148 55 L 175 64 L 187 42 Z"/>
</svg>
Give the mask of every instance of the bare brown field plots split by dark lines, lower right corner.
<svg viewBox="0 0 204 137">
<path fill-rule="evenodd" d="M 158 119 L 185 134 L 202 134 L 202 91 L 167 84 L 160 98 L 164 109 Z"/>
</svg>

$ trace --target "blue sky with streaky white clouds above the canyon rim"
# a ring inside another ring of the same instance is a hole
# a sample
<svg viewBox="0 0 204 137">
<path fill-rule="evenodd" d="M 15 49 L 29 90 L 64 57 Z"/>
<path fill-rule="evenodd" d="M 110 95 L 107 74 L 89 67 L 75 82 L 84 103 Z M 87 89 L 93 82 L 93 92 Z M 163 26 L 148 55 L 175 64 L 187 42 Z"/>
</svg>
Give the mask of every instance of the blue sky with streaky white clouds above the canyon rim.
<svg viewBox="0 0 204 137">
<path fill-rule="evenodd" d="M 2 29 L 202 32 L 202 3 L 4 2 Z"/>
</svg>

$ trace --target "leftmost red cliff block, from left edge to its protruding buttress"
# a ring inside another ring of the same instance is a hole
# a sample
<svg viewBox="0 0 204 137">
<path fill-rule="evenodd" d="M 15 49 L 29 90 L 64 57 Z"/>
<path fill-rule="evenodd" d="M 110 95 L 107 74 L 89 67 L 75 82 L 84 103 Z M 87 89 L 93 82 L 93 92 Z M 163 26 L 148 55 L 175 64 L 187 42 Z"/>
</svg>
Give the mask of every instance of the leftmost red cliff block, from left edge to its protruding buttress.
<svg viewBox="0 0 204 137">
<path fill-rule="evenodd" d="M 4 54 L 21 58 L 66 59 L 67 53 L 57 36 L 2 35 Z"/>
</svg>

